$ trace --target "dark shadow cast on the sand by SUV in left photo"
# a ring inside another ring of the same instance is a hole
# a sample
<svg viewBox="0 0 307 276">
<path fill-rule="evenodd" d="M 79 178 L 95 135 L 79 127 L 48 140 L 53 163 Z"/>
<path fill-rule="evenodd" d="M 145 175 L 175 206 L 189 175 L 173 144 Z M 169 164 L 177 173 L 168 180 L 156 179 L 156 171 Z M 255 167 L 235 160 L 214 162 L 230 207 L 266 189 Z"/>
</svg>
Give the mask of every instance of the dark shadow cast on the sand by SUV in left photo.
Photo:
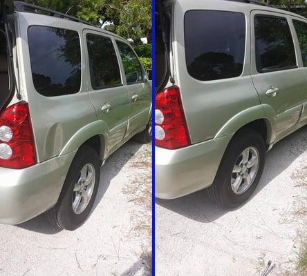
<svg viewBox="0 0 307 276">
<path fill-rule="evenodd" d="M 108 190 L 111 180 L 118 175 L 123 166 L 138 152 L 142 147 L 133 140 L 128 141 L 121 148 L 116 150 L 108 159 L 106 163 L 100 169 L 100 185 L 97 191 L 97 196 L 93 205 L 91 213 L 97 205 L 100 203 L 102 197 Z M 62 229 L 51 226 L 44 214 L 41 214 L 34 219 L 24 222 L 23 224 L 16 225 L 17 227 L 24 228 L 26 230 L 53 235 L 62 231 Z"/>
</svg>

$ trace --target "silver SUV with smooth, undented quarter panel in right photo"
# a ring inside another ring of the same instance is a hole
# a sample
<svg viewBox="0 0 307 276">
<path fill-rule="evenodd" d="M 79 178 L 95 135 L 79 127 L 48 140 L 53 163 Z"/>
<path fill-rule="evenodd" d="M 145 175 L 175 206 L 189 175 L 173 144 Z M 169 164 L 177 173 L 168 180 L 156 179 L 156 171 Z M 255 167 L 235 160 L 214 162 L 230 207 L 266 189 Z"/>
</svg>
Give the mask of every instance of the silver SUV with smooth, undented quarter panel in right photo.
<svg viewBox="0 0 307 276">
<path fill-rule="evenodd" d="M 307 19 L 257 1 L 156 9 L 156 197 L 208 188 L 235 208 L 266 151 L 307 124 Z"/>
</svg>

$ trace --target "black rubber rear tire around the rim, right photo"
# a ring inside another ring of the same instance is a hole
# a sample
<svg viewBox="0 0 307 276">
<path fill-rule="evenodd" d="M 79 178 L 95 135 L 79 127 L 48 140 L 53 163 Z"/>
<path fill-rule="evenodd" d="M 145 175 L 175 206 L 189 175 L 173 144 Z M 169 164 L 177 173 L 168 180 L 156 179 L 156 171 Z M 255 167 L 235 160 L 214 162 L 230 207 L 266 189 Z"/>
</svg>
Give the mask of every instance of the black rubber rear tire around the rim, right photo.
<svg viewBox="0 0 307 276">
<path fill-rule="evenodd" d="M 252 181 L 251 186 L 244 193 L 238 195 L 234 193 L 232 189 L 231 179 L 232 170 L 236 161 L 238 161 L 241 152 L 247 148 L 256 148 L 259 153 L 259 166 L 258 171 L 255 174 L 254 181 Z M 259 184 L 264 164 L 266 161 L 266 144 L 263 141 L 263 137 L 259 132 L 254 131 L 251 128 L 246 128 L 239 131 L 234 137 L 230 144 L 225 150 L 225 154 L 218 168 L 214 184 L 207 188 L 207 192 L 210 197 L 216 201 L 219 206 L 226 209 L 233 209 L 241 206 L 245 201 L 247 201 L 252 193 L 254 193 L 255 188 Z"/>
</svg>

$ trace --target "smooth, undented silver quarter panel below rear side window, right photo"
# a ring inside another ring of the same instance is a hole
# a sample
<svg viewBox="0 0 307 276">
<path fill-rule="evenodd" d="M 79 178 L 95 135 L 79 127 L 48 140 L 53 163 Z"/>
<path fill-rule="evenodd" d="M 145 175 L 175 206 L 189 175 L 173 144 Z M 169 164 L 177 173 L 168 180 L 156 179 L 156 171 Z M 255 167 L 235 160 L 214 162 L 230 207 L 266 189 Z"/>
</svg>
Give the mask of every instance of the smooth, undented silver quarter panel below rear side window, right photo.
<svg viewBox="0 0 307 276">
<path fill-rule="evenodd" d="M 250 76 L 218 82 L 186 77 L 180 90 L 193 144 L 212 139 L 230 118 L 259 106 L 259 97 Z M 239 128 L 232 128 L 225 135 L 236 130 Z"/>
</svg>

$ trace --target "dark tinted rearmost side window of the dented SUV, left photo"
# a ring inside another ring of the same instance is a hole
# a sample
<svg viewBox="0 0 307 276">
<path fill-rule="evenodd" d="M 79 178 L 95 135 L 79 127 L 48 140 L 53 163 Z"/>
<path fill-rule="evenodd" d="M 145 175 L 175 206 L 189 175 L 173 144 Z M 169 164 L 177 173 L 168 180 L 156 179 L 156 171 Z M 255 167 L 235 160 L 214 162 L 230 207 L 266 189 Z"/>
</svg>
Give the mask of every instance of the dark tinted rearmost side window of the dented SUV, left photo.
<svg viewBox="0 0 307 276">
<path fill-rule="evenodd" d="M 28 29 L 28 43 L 37 92 L 48 97 L 79 92 L 81 50 L 77 32 L 31 26 Z"/>
</svg>

